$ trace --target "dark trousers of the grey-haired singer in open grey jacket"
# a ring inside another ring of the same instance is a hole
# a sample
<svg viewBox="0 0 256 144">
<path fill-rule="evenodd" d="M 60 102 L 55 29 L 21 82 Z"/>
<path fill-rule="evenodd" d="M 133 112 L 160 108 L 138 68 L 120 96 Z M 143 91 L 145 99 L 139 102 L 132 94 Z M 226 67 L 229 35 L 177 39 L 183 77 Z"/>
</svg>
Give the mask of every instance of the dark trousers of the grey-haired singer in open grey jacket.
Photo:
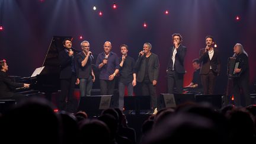
<svg viewBox="0 0 256 144">
<path fill-rule="evenodd" d="M 151 81 L 143 81 L 142 85 L 142 95 L 150 95 L 151 96 L 151 105 L 152 110 L 157 107 L 157 97 L 156 97 L 156 87 L 152 84 Z"/>
</svg>

